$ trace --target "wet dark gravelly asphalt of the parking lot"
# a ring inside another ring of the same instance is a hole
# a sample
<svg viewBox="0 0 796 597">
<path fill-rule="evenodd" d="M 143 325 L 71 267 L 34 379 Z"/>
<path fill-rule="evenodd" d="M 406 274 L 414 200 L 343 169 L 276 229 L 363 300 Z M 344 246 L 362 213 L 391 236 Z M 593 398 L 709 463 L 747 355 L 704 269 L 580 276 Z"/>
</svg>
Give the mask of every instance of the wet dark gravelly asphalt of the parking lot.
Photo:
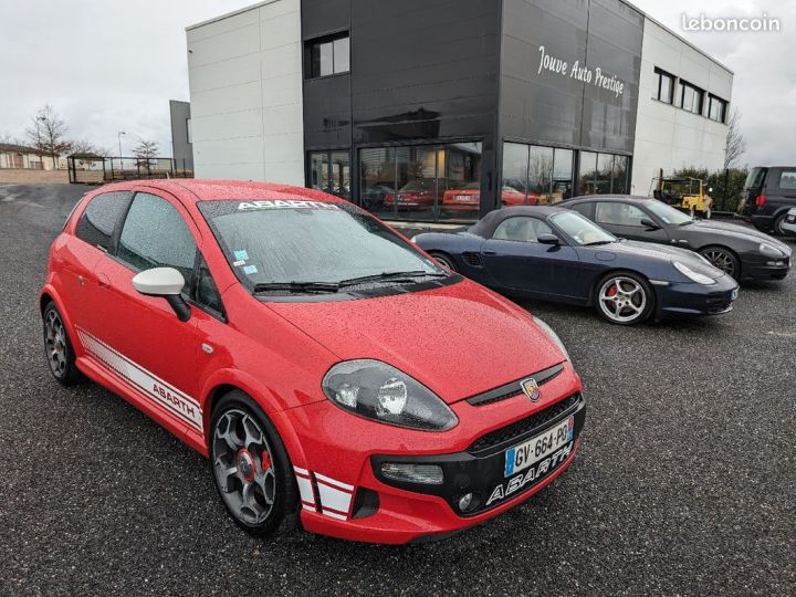
<svg viewBox="0 0 796 597">
<path fill-rule="evenodd" d="M 83 190 L 0 186 L 0 594 L 796 594 L 795 274 L 744 286 L 729 315 L 637 328 L 524 305 L 586 388 L 559 480 L 440 543 L 265 542 L 200 455 L 51 378 L 36 293 Z"/>
</svg>

